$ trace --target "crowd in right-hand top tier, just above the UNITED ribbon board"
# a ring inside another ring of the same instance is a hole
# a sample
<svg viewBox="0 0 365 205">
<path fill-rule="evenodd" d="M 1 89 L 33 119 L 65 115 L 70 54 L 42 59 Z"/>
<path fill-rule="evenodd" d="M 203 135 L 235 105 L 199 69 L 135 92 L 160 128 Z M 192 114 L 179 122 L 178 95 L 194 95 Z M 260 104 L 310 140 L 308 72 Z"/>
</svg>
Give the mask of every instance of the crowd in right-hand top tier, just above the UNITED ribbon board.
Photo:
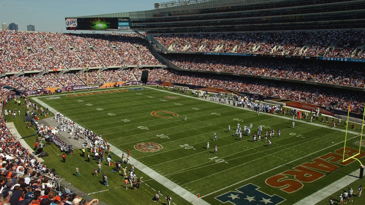
<svg viewBox="0 0 365 205">
<path fill-rule="evenodd" d="M 352 55 L 358 46 L 364 46 L 364 36 L 364 30 L 339 30 L 163 34 L 154 38 L 170 51 L 364 58 L 365 49 Z"/>
</svg>

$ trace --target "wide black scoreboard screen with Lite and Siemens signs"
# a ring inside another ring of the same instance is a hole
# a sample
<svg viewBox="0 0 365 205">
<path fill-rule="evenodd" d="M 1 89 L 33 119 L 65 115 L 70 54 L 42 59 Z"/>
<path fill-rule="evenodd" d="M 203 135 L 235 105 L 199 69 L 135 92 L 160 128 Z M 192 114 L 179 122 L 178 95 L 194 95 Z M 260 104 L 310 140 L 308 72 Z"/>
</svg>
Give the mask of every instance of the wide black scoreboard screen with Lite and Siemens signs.
<svg viewBox="0 0 365 205">
<path fill-rule="evenodd" d="M 65 18 L 66 30 L 129 29 L 129 18 Z"/>
</svg>

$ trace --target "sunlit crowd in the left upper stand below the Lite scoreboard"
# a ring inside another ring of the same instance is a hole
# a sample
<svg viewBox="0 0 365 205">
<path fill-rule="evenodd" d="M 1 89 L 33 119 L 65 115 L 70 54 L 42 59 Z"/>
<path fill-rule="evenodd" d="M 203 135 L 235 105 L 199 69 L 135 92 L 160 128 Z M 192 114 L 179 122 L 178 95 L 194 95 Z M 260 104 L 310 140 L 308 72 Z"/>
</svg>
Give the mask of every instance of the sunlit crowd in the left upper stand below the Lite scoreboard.
<svg viewBox="0 0 365 205">
<path fill-rule="evenodd" d="M 80 67 L 161 65 L 137 34 L 0 31 L 1 73 Z"/>
</svg>

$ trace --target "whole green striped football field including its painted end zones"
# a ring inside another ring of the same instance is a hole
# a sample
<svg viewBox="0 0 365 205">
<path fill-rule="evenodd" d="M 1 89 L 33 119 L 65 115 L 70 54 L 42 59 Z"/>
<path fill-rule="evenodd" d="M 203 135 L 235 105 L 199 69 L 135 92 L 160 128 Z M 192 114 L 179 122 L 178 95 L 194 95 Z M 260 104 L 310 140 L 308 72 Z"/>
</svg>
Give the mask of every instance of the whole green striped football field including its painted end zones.
<svg viewBox="0 0 365 205">
<path fill-rule="evenodd" d="M 295 128 L 292 128 L 290 116 L 262 112 L 258 115 L 247 108 L 146 87 L 57 96 L 57 99 L 38 99 L 83 127 L 101 134 L 119 150 L 129 150 L 132 158 L 209 204 L 301 203 L 301 199 L 354 171 L 358 177 L 360 163 L 357 160 L 342 162 L 343 126 L 334 129 L 330 123 L 296 120 Z M 238 123 L 242 128 L 252 123 L 251 135 L 242 135 L 242 140 L 233 136 Z M 228 125 L 232 132 L 227 131 Z M 252 136 L 260 125 L 263 130 L 261 141 L 253 142 Z M 272 144 L 268 146 L 264 135 L 271 128 L 275 134 L 269 139 Z M 281 130 L 280 138 L 277 137 L 278 129 Z M 358 152 L 360 136 L 355 133 L 359 132 L 351 130 L 347 133 L 346 158 Z M 214 133 L 217 140 L 214 140 Z M 210 149 L 207 149 L 207 141 Z M 215 145 L 218 147 L 216 154 Z M 365 162 L 364 156 L 365 152 L 361 151 L 356 157 Z M 73 171 L 74 167 L 69 169 Z M 110 177 L 123 181 L 118 173 L 111 173 Z M 69 181 L 73 183 L 73 180 Z M 154 180 L 154 183 L 159 182 L 158 178 Z M 354 186 L 358 187 L 361 182 L 363 179 L 358 179 Z M 349 183 L 345 183 L 343 189 Z M 143 184 L 150 195 L 161 187 L 151 186 Z M 353 187 L 354 194 L 357 187 Z M 85 193 L 98 190 L 95 187 L 79 188 Z M 120 191 L 104 192 L 103 197 Z M 174 204 L 189 204 L 181 193 L 170 191 L 169 194 Z M 333 193 L 335 199 L 338 198 L 336 194 L 337 190 Z M 329 196 L 324 195 L 326 199 L 322 204 L 327 203 Z M 354 204 L 359 202 L 360 199 L 356 198 Z"/>
</svg>

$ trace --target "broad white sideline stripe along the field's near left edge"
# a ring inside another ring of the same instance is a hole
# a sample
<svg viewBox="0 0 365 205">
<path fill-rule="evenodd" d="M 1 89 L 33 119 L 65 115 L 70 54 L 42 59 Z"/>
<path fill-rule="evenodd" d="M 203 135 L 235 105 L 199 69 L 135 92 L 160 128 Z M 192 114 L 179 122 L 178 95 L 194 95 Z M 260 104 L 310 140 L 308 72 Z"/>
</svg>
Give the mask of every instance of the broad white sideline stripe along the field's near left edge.
<svg viewBox="0 0 365 205">
<path fill-rule="evenodd" d="M 146 88 L 146 87 L 144 87 Z M 32 100 L 37 102 L 38 104 L 42 105 L 43 107 L 48 107 L 52 110 L 53 113 L 58 112 L 56 109 L 50 107 L 45 102 L 39 100 L 37 97 L 32 97 Z M 67 117 L 67 116 L 66 116 Z M 77 123 L 75 123 L 77 124 Z M 118 155 L 120 158 L 122 158 L 123 151 L 119 150 L 112 144 L 108 143 L 110 145 L 111 151 L 114 152 L 114 154 Z M 185 200 L 190 202 L 193 205 L 209 205 L 208 202 L 204 201 L 201 198 L 198 198 L 195 196 L 195 194 L 189 192 L 188 190 L 184 189 L 183 187 L 179 186 L 177 183 L 174 183 L 170 181 L 170 179 L 162 176 L 161 174 L 157 173 L 153 169 L 147 167 L 142 162 L 139 162 L 137 159 L 134 159 L 133 157 L 129 156 L 130 164 L 134 165 L 138 170 L 141 170 L 143 173 L 151 177 L 152 179 L 156 180 L 161 185 L 165 186 L 169 190 L 176 193 L 178 196 L 183 197 Z"/>
</svg>

